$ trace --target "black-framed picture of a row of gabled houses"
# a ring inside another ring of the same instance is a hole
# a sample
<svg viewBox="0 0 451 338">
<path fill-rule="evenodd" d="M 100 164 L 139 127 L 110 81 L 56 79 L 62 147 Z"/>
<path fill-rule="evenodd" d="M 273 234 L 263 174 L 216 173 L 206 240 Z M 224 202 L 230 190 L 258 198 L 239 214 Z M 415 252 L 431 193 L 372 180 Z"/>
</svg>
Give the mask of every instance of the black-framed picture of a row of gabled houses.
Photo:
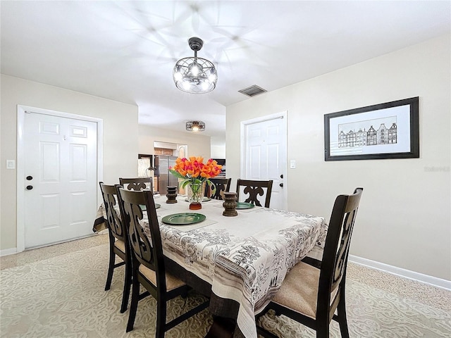
<svg viewBox="0 0 451 338">
<path fill-rule="evenodd" d="M 419 96 L 324 115 L 325 161 L 419 156 Z"/>
</svg>

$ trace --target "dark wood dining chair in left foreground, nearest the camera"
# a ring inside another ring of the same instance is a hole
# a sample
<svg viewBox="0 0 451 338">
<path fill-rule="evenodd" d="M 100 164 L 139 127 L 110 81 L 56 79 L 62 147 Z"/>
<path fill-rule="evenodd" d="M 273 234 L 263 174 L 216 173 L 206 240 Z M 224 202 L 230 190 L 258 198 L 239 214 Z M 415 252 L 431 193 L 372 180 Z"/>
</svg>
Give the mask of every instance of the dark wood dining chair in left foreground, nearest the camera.
<svg viewBox="0 0 451 338">
<path fill-rule="evenodd" d="M 187 296 L 188 287 L 177 277 L 166 273 L 154 196 L 147 190 L 133 192 L 118 188 L 118 197 L 121 217 L 128 225 L 132 248 L 132 303 L 130 304 L 127 332 L 133 330 L 138 301 L 151 294 L 156 299 L 155 337 L 163 338 L 166 331 L 209 306 L 209 301 L 166 323 L 166 302 L 176 296 Z M 140 220 L 144 217 L 140 207 L 142 205 L 146 206 L 150 237 L 147 237 L 140 224 Z M 140 285 L 146 289 L 142 294 L 140 294 Z"/>
</svg>

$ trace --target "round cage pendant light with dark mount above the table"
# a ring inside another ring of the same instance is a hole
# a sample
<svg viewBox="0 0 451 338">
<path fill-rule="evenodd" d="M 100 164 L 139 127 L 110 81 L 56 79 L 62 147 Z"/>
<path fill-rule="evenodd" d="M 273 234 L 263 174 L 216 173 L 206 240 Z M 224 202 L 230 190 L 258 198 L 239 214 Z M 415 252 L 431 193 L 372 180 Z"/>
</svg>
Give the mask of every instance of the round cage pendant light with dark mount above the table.
<svg viewBox="0 0 451 338">
<path fill-rule="evenodd" d="M 181 58 L 175 63 L 173 79 L 178 89 L 192 94 L 211 92 L 216 87 L 218 73 L 214 64 L 205 58 L 198 58 L 197 51 L 202 49 L 204 42 L 199 37 L 188 40 L 194 51 L 194 58 Z"/>
</svg>

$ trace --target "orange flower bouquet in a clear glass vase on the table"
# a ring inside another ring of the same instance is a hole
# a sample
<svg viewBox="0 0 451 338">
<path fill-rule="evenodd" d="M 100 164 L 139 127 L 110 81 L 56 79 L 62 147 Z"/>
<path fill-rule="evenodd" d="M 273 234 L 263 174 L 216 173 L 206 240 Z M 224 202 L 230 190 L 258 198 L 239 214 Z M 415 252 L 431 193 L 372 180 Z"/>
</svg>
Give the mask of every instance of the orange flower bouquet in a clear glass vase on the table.
<svg viewBox="0 0 451 338">
<path fill-rule="evenodd" d="M 213 159 L 204 163 L 203 157 L 177 158 L 175 165 L 169 171 L 175 177 L 180 178 L 180 187 L 189 187 L 188 199 L 194 204 L 200 204 L 204 197 L 205 184 L 211 186 L 210 178 L 221 173 L 222 165 L 218 165 Z M 200 207 L 199 207 L 200 208 Z"/>
</svg>

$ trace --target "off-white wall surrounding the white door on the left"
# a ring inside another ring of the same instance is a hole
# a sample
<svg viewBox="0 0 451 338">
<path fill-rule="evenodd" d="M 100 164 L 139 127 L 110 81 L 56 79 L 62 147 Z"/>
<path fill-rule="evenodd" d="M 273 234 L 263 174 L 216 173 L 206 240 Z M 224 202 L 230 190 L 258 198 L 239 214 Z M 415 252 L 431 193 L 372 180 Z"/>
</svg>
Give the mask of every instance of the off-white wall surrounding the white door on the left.
<svg viewBox="0 0 451 338">
<path fill-rule="evenodd" d="M 18 104 L 103 119 L 104 182 L 137 173 L 137 106 L 1 75 L 0 250 L 16 248 L 17 243 L 16 170 L 6 170 L 5 163 L 17 160 Z"/>
</svg>

